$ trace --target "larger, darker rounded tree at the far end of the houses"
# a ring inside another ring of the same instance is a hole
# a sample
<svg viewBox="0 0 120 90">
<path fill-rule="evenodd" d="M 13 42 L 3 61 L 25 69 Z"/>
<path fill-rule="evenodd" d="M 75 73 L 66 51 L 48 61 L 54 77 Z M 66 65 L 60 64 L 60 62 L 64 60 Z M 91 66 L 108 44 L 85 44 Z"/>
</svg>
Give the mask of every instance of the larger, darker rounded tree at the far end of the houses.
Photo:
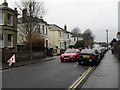
<svg viewBox="0 0 120 90">
<path fill-rule="evenodd" d="M 84 31 L 83 40 L 84 40 L 84 44 L 85 44 L 86 47 L 90 46 L 92 48 L 94 38 L 95 38 L 95 36 L 90 29 L 86 29 Z"/>
</svg>

